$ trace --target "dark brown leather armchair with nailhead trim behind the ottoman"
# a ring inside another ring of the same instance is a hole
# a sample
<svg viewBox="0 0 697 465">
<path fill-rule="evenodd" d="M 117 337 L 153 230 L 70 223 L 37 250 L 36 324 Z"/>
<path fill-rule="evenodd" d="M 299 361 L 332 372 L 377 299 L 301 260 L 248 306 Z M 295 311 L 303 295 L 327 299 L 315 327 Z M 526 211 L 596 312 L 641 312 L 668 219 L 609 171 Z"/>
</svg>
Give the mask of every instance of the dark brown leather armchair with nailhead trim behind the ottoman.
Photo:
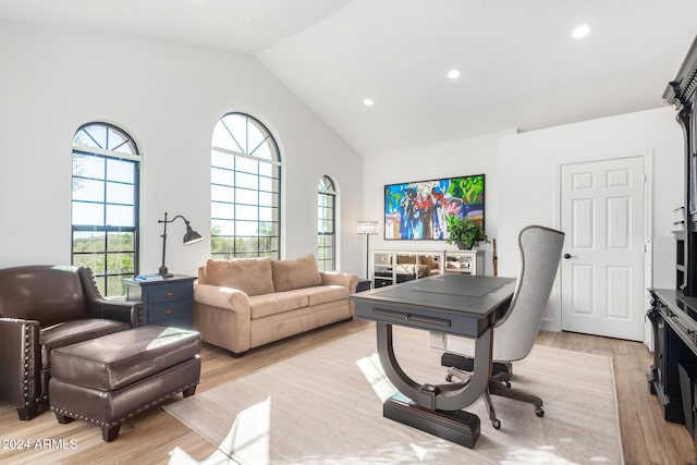
<svg viewBox="0 0 697 465">
<path fill-rule="evenodd" d="M 103 299 L 89 268 L 0 269 L 0 402 L 34 418 L 49 401 L 53 348 L 136 328 L 142 315 L 139 302 Z"/>
</svg>

